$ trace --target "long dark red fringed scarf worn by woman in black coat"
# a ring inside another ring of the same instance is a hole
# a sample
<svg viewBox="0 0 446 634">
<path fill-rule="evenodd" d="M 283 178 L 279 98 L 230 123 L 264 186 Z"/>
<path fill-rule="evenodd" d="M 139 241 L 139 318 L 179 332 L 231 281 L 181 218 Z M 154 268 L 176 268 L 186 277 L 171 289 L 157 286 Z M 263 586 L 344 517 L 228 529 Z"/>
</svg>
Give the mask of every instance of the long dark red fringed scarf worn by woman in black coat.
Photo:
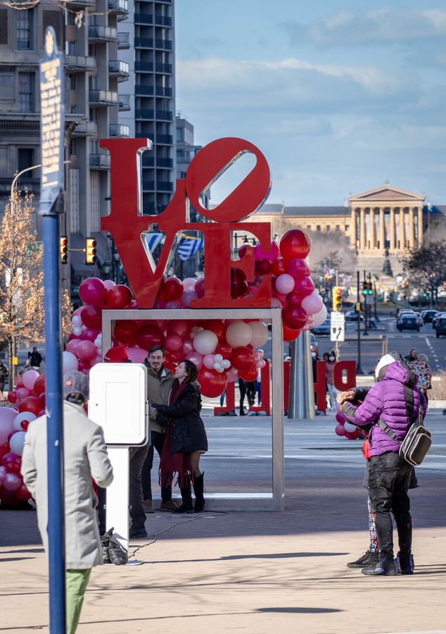
<svg viewBox="0 0 446 634">
<path fill-rule="evenodd" d="M 169 394 L 169 404 L 174 405 L 181 392 L 188 383 L 179 383 L 175 379 Z M 190 487 L 192 480 L 191 459 L 189 454 L 172 452 L 173 422 L 170 418 L 164 439 L 163 452 L 161 453 L 158 481 L 162 487 L 170 487 L 172 483 L 179 485 L 180 489 Z M 177 478 L 175 480 L 175 477 Z M 175 482 L 174 482 L 175 480 Z"/>
</svg>

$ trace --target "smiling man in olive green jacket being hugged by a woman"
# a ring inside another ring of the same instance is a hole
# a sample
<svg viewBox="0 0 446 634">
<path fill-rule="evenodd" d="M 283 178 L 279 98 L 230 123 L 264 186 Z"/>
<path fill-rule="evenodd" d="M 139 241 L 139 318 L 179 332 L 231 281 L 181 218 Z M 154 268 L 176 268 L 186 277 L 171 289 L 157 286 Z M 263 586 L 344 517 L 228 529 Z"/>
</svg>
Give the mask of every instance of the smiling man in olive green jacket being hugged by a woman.
<svg viewBox="0 0 446 634">
<path fill-rule="evenodd" d="M 153 346 L 148 351 L 148 356 L 144 364 L 147 367 L 147 397 L 148 401 L 169 404 L 169 394 L 174 383 L 174 375 L 170 370 L 164 367 L 165 361 L 164 348 Z M 153 513 L 152 506 L 152 488 L 151 488 L 151 470 L 153 466 L 153 447 L 155 447 L 158 455 L 163 453 L 164 439 L 166 428 L 161 427 L 156 422 L 156 410 L 151 408 L 149 411 L 151 419 L 151 446 L 148 449 L 146 460 L 141 473 L 144 495 L 144 510 L 146 513 Z M 172 487 L 162 487 L 160 511 L 174 511 L 177 504 L 172 500 Z"/>
</svg>

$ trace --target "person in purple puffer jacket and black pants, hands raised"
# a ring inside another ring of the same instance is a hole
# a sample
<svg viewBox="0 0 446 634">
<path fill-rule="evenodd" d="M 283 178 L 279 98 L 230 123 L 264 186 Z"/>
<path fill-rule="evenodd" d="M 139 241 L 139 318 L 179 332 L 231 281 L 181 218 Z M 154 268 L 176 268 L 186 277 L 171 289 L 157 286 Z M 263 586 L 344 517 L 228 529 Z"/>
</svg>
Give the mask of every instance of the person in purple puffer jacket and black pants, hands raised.
<svg viewBox="0 0 446 634">
<path fill-rule="evenodd" d="M 378 563 L 362 570 L 365 575 L 397 574 L 393 558 L 393 525 L 390 512 L 395 517 L 400 545 L 400 566 L 413 569 L 412 517 L 410 515 L 409 490 L 412 466 L 399 454 L 400 444 L 407 430 L 426 403 L 416 387 L 416 375 L 395 359 L 397 353 L 384 355 L 376 366 L 377 383 L 371 387 L 360 406 L 344 402 L 342 411 L 348 421 L 361 428 L 369 428 L 369 478 L 368 489 L 371 507 L 375 514 L 378 536 Z M 397 435 L 393 440 L 378 425 L 381 419 Z"/>
</svg>

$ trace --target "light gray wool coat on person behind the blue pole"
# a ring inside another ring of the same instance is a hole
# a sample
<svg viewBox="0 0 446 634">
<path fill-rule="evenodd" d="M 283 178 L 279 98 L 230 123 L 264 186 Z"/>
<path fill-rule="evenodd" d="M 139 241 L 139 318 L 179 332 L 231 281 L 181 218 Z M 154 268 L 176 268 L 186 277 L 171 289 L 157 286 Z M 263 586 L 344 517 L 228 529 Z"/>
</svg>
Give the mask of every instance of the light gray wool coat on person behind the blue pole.
<svg viewBox="0 0 446 634">
<path fill-rule="evenodd" d="M 102 564 L 101 538 L 96 520 L 93 478 L 108 487 L 113 470 L 103 431 L 87 418 L 82 407 L 63 402 L 65 473 L 65 559 L 68 570 Z M 25 436 L 21 472 L 37 504 L 39 531 L 48 552 L 48 499 L 46 468 L 46 416 L 30 423 Z"/>
</svg>

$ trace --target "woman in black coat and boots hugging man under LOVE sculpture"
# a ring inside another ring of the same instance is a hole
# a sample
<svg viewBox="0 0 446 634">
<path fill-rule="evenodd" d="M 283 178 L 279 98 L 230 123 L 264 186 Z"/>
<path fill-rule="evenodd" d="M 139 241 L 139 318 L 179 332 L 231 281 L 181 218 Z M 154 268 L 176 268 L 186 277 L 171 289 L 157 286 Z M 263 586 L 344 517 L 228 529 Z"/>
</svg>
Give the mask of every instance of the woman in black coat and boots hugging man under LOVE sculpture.
<svg viewBox="0 0 446 634">
<path fill-rule="evenodd" d="M 160 459 L 160 485 L 172 485 L 177 476 L 183 499 L 174 513 L 200 513 L 205 506 L 200 456 L 208 451 L 208 438 L 200 418 L 201 395 L 197 376 L 198 370 L 194 363 L 184 359 L 175 371 L 169 404 L 151 403 L 158 411 L 156 422 L 167 426 Z M 191 482 L 195 492 L 195 509 L 192 506 Z"/>
</svg>

